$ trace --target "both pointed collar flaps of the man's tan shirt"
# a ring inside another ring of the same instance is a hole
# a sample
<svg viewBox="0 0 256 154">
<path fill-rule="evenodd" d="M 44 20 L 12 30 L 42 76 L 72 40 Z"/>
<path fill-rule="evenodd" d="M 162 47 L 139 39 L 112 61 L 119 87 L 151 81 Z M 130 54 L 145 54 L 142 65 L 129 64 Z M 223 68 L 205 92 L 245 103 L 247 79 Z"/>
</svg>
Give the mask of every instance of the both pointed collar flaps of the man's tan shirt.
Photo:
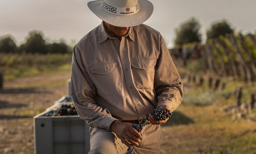
<svg viewBox="0 0 256 154">
<path fill-rule="evenodd" d="M 129 35 L 130 39 L 134 40 L 134 32 L 133 32 L 133 27 L 130 27 L 128 33 L 124 36 L 127 37 L 127 35 Z M 98 30 L 98 43 L 102 43 L 104 42 L 107 38 L 112 38 L 111 36 L 109 36 L 109 34 L 107 33 L 106 28 L 104 27 L 104 21 L 102 21 L 102 23 L 100 24 L 99 30 Z"/>
</svg>

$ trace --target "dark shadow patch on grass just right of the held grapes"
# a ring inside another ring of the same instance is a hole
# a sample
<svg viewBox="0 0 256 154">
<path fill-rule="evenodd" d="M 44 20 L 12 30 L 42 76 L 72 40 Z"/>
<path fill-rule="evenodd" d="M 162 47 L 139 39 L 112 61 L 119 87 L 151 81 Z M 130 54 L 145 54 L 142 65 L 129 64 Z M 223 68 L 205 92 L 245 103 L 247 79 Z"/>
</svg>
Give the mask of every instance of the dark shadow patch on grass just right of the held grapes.
<svg viewBox="0 0 256 154">
<path fill-rule="evenodd" d="M 190 124 L 194 123 L 194 120 L 190 119 L 183 113 L 179 111 L 174 111 L 173 115 L 171 116 L 171 120 L 168 120 L 162 126 L 173 126 L 173 125 L 180 125 L 180 124 Z"/>
</svg>

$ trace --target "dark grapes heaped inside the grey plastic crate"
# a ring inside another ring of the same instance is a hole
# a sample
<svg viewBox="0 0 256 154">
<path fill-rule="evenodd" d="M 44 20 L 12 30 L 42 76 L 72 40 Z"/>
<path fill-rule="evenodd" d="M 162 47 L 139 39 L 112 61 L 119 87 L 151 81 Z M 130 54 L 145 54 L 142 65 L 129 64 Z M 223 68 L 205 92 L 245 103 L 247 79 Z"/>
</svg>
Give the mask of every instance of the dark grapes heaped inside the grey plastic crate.
<svg viewBox="0 0 256 154">
<path fill-rule="evenodd" d="M 70 105 L 62 104 L 57 110 L 54 111 L 53 115 L 78 115 L 76 108 L 71 103 Z"/>
</svg>

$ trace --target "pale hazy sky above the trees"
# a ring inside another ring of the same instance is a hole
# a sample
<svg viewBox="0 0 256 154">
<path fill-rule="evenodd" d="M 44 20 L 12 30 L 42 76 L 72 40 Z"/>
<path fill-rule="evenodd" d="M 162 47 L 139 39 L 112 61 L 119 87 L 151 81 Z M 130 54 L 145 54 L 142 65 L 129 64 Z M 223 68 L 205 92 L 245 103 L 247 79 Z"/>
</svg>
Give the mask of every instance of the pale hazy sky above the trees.
<svg viewBox="0 0 256 154">
<path fill-rule="evenodd" d="M 90 0 L 0 0 L 0 36 L 11 34 L 17 44 L 31 30 L 41 30 L 49 41 L 79 41 L 101 23 L 87 7 Z M 256 0 L 149 0 L 154 5 L 145 24 L 161 32 L 173 46 L 175 28 L 195 17 L 201 33 L 214 21 L 227 19 L 236 32 L 256 32 Z"/>
</svg>

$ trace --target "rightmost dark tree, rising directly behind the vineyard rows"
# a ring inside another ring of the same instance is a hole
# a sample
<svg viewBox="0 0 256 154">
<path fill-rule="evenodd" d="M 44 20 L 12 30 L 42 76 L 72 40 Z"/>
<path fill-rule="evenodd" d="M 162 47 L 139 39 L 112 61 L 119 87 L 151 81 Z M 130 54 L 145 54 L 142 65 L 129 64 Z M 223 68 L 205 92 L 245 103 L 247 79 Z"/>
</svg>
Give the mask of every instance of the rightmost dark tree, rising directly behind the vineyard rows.
<svg viewBox="0 0 256 154">
<path fill-rule="evenodd" d="M 228 21 L 225 19 L 222 21 L 216 21 L 211 24 L 211 28 L 207 30 L 207 39 L 219 37 L 220 35 L 232 34 L 234 30 L 231 28 Z"/>
</svg>

